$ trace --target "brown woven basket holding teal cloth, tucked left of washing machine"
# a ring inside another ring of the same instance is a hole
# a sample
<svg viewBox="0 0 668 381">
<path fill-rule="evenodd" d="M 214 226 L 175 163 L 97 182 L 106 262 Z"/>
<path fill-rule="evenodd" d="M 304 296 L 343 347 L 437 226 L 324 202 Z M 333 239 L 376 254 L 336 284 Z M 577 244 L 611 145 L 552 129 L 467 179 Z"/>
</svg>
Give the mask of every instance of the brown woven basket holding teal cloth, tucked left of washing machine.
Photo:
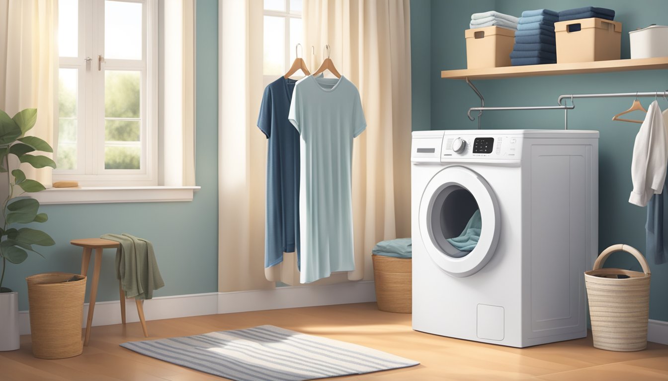
<svg viewBox="0 0 668 381">
<path fill-rule="evenodd" d="M 378 309 L 410 314 L 413 308 L 413 260 L 371 256 Z"/>
</svg>

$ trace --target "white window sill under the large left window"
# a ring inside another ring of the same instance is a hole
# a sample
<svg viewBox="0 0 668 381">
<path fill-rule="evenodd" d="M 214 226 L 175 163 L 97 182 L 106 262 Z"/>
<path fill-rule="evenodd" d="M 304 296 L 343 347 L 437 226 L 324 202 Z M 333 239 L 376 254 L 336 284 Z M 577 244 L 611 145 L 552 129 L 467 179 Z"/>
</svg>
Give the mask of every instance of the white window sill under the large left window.
<svg viewBox="0 0 668 381">
<path fill-rule="evenodd" d="M 73 187 L 48 188 L 28 196 L 39 204 L 111 204 L 192 201 L 200 187 Z"/>
</svg>

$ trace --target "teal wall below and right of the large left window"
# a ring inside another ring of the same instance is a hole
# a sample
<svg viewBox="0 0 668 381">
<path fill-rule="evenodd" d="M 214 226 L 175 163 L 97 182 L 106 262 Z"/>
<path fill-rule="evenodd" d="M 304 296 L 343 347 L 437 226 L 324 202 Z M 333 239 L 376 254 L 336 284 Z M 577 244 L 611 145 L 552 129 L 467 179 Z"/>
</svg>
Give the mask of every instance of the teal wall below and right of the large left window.
<svg viewBox="0 0 668 381">
<path fill-rule="evenodd" d="M 31 255 L 23 264 L 8 265 L 5 274 L 4 286 L 19 292 L 19 310 L 28 309 L 26 276 L 51 271 L 78 274 L 81 249 L 69 240 L 105 233 L 130 233 L 153 242 L 165 281 L 154 296 L 216 292 L 218 2 L 198 0 L 196 12 L 196 182 L 202 189 L 192 202 L 43 206 L 49 220 L 40 228 L 51 234 L 55 246 L 41 250 L 45 258 Z M 98 302 L 118 300 L 114 254 L 113 249 L 104 250 Z M 91 272 L 92 267 L 91 263 Z"/>
</svg>

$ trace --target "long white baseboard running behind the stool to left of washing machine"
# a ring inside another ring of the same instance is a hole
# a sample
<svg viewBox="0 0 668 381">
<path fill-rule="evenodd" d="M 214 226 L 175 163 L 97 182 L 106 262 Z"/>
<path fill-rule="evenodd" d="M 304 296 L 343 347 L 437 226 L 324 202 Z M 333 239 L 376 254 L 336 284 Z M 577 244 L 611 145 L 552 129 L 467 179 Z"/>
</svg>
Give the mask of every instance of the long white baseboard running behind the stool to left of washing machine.
<svg viewBox="0 0 668 381">
<path fill-rule="evenodd" d="M 213 314 L 229 314 L 279 308 L 328 306 L 375 302 L 373 281 L 344 282 L 323 286 L 289 286 L 272 290 L 239 292 L 209 292 L 178 296 L 161 296 L 144 302 L 146 320 L 184 318 Z M 81 327 L 86 326 L 88 304 L 83 306 Z M 138 322 L 134 299 L 126 300 L 126 322 Z M 108 326 L 121 323 L 121 308 L 118 300 L 97 302 L 93 326 Z M 30 334 L 29 311 L 19 312 L 19 331 Z"/>
</svg>

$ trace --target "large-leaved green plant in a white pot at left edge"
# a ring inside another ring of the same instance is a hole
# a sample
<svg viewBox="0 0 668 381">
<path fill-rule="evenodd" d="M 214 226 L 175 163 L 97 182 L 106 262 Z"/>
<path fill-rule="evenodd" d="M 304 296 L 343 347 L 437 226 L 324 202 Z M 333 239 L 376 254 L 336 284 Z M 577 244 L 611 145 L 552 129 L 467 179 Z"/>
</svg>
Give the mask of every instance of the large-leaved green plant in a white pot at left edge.
<svg viewBox="0 0 668 381">
<path fill-rule="evenodd" d="M 9 117 L 0 110 L 0 176 L 7 176 L 7 189 L 0 189 L 2 224 L 0 225 L 0 351 L 19 349 L 19 298 L 17 292 L 3 287 L 7 265 L 25 261 L 27 252 L 35 252 L 33 245 L 51 246 L 53 239 L 31 228 L 20 228 L 20 224 L 45 222 L 47 215 L 39 212 L 39 202 L 25 197 L 25 193 L 39 192 L 44 185 L 27 179 L 17 163 L 28 163 L 35 168 L 52 167 L 55 162 L 35 151 L 53 152 L 51 146 L 39 137 L 25 136 L 37 120 L 37 109 L 19 111 Z M 11 169 L 15 166 L 15 169 Z M 2 182 L 4 183 L 4 181 Z M 4 194 L 7 192 L 7 194 Z M 39 253 L 37 253 L 39 254 Z M 39 254 L 41 255 L 41 254 Z"/>
</svg>

